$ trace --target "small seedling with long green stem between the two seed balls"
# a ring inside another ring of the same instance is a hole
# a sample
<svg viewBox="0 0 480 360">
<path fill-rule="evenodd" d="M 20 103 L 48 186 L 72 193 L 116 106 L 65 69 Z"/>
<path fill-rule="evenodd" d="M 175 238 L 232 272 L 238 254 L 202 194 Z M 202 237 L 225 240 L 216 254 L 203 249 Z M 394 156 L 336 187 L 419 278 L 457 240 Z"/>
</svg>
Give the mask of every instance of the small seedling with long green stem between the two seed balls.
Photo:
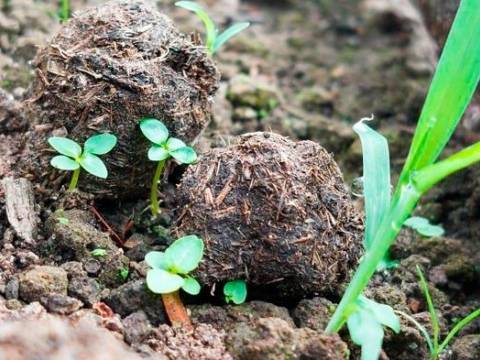
<svg viewBox="0 0 480 360">
<path fill-rule="evenodd" d="M 165 162 L 174 158 L 180 164 L 191 164 L 197 160 L 197 154 L 182 140 L 169 137 L 167 127 L 157 119 L 143 119 L 140 122 L 140 129 L 143 135 L 153 143 L 148 150 L 148 158 L 158 161 L 150 189 L 150 206 L 152 214 L 155 216 L 160 213 L 157 187 L 165 168 Z"/>
</svg>

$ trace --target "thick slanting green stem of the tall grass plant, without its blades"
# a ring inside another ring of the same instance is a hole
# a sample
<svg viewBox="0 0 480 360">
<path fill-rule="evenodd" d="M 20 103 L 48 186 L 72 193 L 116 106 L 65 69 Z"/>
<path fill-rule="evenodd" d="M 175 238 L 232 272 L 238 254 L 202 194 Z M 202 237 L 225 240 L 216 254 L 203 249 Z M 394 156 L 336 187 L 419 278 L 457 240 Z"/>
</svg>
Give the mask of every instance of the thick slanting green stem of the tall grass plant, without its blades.
<svg viewBox="0 0 480 360">
<path fill-rule="evenodd" d="M 335 313 L 330 319 L 326 329 L 328 333 L 338 332 L 345 324 L 349 316 L 351 304 L 357 300 L 367 286 L 378 264 L 395 241 L 403 223 L 415 208 L 419 198 L 420 194 L 413 186 L 403 187 L 402 196 L 400 196 L 397 204 L 392 205 L 390 211 L 383 219 L 370 250 L 365 253 L 362 262 L 348 284 L 340 304 L 338 304 Z"/>
</svg>

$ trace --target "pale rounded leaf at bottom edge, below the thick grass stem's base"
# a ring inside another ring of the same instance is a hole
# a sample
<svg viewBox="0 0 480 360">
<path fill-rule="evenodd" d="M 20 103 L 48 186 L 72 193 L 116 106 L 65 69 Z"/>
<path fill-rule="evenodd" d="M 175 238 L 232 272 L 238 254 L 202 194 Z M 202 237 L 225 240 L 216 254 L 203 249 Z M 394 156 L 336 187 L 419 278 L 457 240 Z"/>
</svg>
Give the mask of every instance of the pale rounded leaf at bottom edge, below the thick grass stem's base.
<svg viewBox="0 0 480 360">
<path fill-rule="evenodd" d="M 352 341 L 362 347 L 362 360 L 378 360 L 382 350 L 383 327 L 373 314 L 360 309 L 347 320 Z"/>
</svg>

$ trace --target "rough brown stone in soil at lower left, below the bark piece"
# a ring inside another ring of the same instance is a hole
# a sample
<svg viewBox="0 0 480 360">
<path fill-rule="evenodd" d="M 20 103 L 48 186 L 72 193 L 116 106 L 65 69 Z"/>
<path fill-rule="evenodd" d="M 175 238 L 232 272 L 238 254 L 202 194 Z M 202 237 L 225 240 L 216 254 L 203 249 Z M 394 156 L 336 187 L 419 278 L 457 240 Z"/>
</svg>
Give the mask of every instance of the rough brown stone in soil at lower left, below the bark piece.
<svg viewBox="0 0 480 360">
<path fill-rule="evenodd" d="M 40 301 L 50 294 L 67 294 L 65 270 L 55 266 L 34 266 L 19 275 L 19 296 L 26 302 Z"/>
</svg>

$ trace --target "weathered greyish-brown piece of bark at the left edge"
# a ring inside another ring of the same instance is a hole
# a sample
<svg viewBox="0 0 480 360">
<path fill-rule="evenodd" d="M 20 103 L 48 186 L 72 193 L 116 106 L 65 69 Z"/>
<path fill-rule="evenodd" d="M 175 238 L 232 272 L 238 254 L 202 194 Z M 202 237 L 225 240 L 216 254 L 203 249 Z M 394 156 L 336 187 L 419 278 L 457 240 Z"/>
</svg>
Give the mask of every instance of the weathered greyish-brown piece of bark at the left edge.
<svg viewBox="0 0 480 360">
<path fill-rule="evenodd" d="M 30 181 L 7 177 L 2 180 L 7 218 L 12 227 L 27 244 L 33 245 L 37 235 L 35 198 Z"/>
</svg>

